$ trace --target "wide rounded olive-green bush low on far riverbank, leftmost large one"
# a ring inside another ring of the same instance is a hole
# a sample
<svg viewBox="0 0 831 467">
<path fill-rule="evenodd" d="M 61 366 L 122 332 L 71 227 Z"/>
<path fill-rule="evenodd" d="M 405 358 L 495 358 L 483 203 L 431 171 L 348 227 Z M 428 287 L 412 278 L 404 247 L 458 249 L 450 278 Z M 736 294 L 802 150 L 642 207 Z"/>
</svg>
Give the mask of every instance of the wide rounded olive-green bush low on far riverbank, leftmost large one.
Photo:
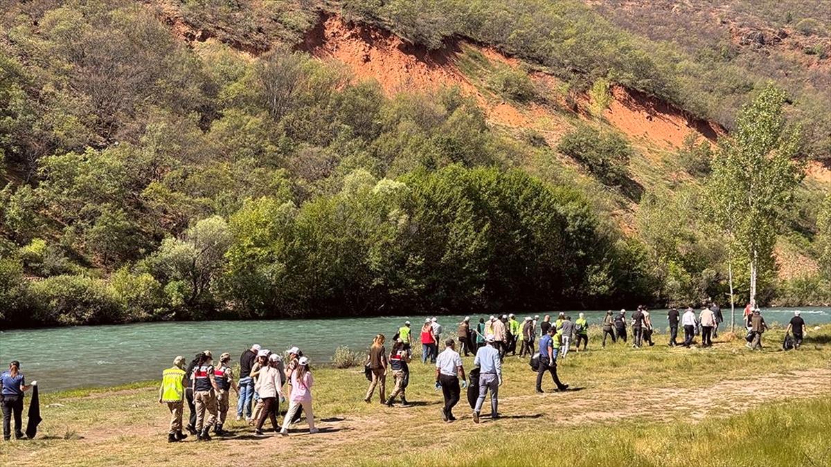
<svg viewBox="0 0 831 467">
<path fill-rule="evenodd" d="M 106 324 L 123 321 L 118 297 L 106 281 L 61 275 L 32 283 L 34 321 L 44 325 Z"/>
</svg>

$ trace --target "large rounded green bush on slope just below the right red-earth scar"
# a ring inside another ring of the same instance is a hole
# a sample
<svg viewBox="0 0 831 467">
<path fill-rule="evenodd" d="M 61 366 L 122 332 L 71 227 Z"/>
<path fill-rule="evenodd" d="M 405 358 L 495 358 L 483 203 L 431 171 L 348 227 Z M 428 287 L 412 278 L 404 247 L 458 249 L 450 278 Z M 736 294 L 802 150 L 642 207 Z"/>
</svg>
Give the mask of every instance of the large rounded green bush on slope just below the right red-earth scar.
<svg viewBox="0 0 831 467">
<path fill-rule="evenodd" d="M 607 184 L 623 184 L 628 179 L 627 164 L 632 147 L 616 133 L 602 134 L 588 125 L 567 133 L 557 149 L 572 157 Z"/>
</svg>

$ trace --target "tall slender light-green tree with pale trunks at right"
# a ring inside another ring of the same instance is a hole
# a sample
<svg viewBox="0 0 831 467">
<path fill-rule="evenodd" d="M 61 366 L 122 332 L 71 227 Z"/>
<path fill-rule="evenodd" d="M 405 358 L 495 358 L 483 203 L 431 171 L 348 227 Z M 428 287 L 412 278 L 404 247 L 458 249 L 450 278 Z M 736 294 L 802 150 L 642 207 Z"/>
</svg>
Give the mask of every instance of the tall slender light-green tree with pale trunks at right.
<svg viewBox="0 0 831 467">
<path fill-rule="evenodd" d="M 740 260 L 750 267 L 748 292 L 754 306 L 760 270 L 774 266 L 780 213 L 804 178 L 800 131 L 785 119 L 785 100 L 784 91 L 768 84 L 742 109 L 735 130 L 720 140 L 707 184 L 713 217 L 730 243 L 730 294 L 732 266 Z"/>
</svg>

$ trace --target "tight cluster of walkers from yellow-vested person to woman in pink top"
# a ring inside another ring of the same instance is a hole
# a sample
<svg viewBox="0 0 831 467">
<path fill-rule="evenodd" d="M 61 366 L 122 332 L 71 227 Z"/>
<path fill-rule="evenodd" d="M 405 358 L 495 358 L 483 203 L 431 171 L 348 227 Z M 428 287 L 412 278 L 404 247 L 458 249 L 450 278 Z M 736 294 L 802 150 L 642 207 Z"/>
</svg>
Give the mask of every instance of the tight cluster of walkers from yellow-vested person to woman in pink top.
<svg viewBox="0 0 831 467">
<path fill-rule="evenodd" d="M 237 420 L 253 425 L 255 435 L 263 435 L 263 425 L 268 419 L 273 430 L 288 435 L 288 427 L 302 408 L 306 415 L 310 433 L 317 433 L 312 414 L 312 386 L 314 379 L 308 358 L 297 347 L 292 347 L 283 356 L 263 349 L 258 344 L 243 351 L 239 357 L 239 379 L 229 363 L 228 352 L 219 356 L 214 364 L 211 351 L 202 351 L 185 366 L 184 356 L 177 356 L 173 366 L 162 372 L 159 388 L 159 402 L 170 410 L 170 431 L 168 441 L 178 442 L 188 435 L 183 431 L 184 404 L 190 410 L 188 425 L 184 429 L 197 440 L 211 440 L 214 435 L 229 435 L 224 430 L 230 409 L 230 392 L 237 393 Z M 283 386 L 288 383 L 288 388 Z M 283 425 L 278 425 L 279 405 L 288 393 L 288 410 Z M 253 405 L 253 410 L 252 410 Z"/>
</svg>

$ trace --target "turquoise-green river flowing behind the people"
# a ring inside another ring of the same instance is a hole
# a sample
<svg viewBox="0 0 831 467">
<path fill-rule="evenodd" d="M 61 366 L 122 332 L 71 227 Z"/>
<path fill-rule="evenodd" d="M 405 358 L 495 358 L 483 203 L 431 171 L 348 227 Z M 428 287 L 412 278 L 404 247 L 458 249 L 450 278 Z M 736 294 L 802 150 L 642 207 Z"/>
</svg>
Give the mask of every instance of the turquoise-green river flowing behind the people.
<svg viewBox="0 0 831 467">
<path fill-rule="evenodd" d="M 828 307 L 771 308 L 763 310 L 769 323 L 786 323 L 800 309 L 805 322 L 813 327 L 831 322 Z M 736 310 L 737 323 L 741 309 Z M 573 319 L 578 312 L 567 312 Z M 602 322 L 604 312 L 587 311 L 590 324 Z M 553 314 L 553 313 L 552 313 Z M 627 313 L 627 316 L 631 312 Z M 724 310 L 730 319 L 730 309 Z M 443 337 L 455 337 L 462 316 L 440 316 Z M 471 321 L 478 321 L 471 317 Z M 485 317 L 486 318 L 486 317 Z M 519 316 L 522 321 L 524 316 Z M 229 351 L 238 361 L 239 354 L 253 343 L 272 351 L 297 346 L 314 364 L 331 361 L 339 346 L 356 351 L 366 349 L 377 332 L 391 338 L 405 320 L 412 322 L 418 338 L 423 316 L 350 317 L 330 319 L 145 322 L 115 326 L 52 327 L 0 331 L 0 361 L 21 361 L 27 381 L 37 380 L 41 391 L 60 391 L 78 387 L 113 386 L 160 377 L 173 358 L 209 349 L 214 356 Z M 552 319 L 556 319 L 553 316 Z M 652 311 L 657 332 L 665 332 L 666 311 Z M 724 325 L 722 325 L 724 326 Z"/>
</svg>

